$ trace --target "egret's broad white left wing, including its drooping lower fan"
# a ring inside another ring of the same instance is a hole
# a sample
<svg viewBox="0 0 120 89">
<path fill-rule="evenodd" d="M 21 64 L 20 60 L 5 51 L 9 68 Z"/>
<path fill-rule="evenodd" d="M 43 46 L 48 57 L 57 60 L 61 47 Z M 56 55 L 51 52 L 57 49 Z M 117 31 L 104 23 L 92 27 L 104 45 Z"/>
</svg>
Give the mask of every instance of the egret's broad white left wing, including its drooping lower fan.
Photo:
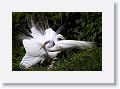
<svg viewBox="0 0 120 89">
<path fill-rule="evenodd" d="M 41 44 L 39 44 L 33 38 L 24 39 L 23 45 L 26 50 L 26 54 L 20 63 L 22 66 L 29 68 L 40 61 L 42 63 L 47 57 L 47 53 L 45 52 L 45 50 L 43 48 L 41 49 Z"/>
</svg>

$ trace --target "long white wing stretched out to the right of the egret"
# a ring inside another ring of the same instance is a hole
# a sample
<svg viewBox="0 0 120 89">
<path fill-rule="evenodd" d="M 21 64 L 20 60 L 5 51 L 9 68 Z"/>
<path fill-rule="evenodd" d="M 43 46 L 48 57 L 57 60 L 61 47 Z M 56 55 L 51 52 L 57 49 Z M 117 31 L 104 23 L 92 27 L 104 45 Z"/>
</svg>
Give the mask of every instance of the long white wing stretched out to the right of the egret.
<svg viewBox="0 0 120 89">
<path fill-rule="evenodd" d="M 94 42 L 87 42 L 87 41 L 77 41 L 77 40 L 61 40 L 58 41 L 55 46 L 47 49 L 48 51 L 61 51 L 65 49 L 70 48 L 86 48 L 86 47 L 92 47 Z"/>
</svg>

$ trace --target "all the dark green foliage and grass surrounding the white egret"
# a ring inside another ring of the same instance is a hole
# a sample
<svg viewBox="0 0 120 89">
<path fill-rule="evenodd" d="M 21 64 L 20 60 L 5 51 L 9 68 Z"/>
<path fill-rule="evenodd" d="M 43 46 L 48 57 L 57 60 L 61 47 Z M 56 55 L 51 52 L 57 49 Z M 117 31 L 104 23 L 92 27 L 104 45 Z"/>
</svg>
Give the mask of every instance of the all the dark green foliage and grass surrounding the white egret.
<svg viewBox="0 0 120 89">
<path fill-rule="evenodd" d="M 57 30 L 62 24 L 65 29 L 62 35 L 66 39 L 85 40 L 96 42 L 97 45 L 90 49 L 70 49 L 58 55 L 58 60 L 52 69 L 48 69 L 50 60 L 44 64 L 37 64 L 27 71 L 101 71 L 102 70 L 102 13 L 101 12 L 13 12 L 12 13 L 12 69 L 14 71 L 24 71 L 19 66 L 20 61 L 25 55 L 22 41 L 16 39 L 18 32 L 26 35 L 29 30 L 29 16 L 33 16 L 35 22 L 39 24 L 43 17 L 48 17 L 49 26 Z"/>
</svg>

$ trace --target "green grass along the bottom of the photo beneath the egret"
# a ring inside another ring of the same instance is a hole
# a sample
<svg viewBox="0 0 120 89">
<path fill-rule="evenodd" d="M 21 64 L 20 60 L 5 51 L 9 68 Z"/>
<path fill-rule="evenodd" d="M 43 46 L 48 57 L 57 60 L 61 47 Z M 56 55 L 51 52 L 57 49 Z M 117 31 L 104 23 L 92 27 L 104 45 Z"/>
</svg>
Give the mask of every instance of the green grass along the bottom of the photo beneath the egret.
<svg viewBox="0 0 120 89">
<path fill-rule="evenodd" d="M 58 55 L 53 68 L 48 69 L 50 61 L 37 64 L 29 69 L 20 69 L 19 63 L 25 54 L 23 47 L 13 53 L 13 71 L 101 71 L 102 49 L 94 47 L 83 50 L 67 50 Z"/>
</svg>

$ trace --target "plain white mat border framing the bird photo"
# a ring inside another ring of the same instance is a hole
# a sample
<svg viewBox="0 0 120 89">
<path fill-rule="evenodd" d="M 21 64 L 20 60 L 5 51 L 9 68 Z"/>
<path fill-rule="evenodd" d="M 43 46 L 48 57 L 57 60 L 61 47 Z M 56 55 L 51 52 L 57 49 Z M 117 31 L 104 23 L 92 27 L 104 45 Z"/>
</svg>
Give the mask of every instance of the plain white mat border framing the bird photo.
<svg viewBox="0 0 120 89">
<path fill-rule="evenodd" d="M 0 6 L 1 82 L 114 83 L 112 0 L 4 0 Z M 12 71 L 12 12 L 102 12 L 102 71 Z"/>
</svg>

